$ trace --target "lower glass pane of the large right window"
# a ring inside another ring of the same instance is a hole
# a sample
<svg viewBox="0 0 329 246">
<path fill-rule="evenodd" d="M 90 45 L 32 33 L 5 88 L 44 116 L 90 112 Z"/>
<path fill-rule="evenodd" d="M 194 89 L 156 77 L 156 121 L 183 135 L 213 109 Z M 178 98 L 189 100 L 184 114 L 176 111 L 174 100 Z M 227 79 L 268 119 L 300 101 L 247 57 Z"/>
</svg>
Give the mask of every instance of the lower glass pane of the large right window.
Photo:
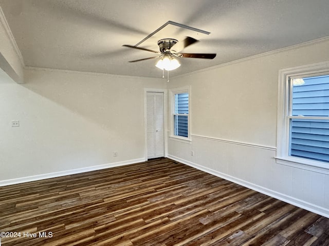
<svg viewBox="0 0 329 246">
<path fill-rule="evenodd" d="M 290 119 L 289 155 L 329 162 L 329 120 Z"/>
</svg>

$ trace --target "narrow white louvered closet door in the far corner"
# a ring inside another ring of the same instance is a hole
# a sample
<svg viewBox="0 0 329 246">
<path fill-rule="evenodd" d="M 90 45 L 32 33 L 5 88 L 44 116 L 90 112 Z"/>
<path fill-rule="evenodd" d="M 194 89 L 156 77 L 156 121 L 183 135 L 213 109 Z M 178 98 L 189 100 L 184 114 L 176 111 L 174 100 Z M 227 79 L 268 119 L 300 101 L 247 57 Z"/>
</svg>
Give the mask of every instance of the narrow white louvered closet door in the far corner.
<svg viewBox="0 0 329 246">
<path fill-rule="evenodd" d="M 148 159 L 162 157 L 163 151 L 163 93 L 147 93 Z"/>
</svg>

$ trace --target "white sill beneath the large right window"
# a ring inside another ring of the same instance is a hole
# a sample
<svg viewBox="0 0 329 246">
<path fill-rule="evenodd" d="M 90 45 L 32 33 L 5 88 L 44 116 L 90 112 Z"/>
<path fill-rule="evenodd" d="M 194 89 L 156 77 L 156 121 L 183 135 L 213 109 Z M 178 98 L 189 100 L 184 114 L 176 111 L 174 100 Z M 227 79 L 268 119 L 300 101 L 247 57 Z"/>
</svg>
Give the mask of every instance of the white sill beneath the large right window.
<svg viewBox="0 0 329 246">
<path fill-rule="evenodd" d="M 312 172 L 329 174 L 329 163 L 320 161 L 306 160 L 292 156 L 276 156 L 276 161 L 280 165 L 304 169 Z"/>
</svg>

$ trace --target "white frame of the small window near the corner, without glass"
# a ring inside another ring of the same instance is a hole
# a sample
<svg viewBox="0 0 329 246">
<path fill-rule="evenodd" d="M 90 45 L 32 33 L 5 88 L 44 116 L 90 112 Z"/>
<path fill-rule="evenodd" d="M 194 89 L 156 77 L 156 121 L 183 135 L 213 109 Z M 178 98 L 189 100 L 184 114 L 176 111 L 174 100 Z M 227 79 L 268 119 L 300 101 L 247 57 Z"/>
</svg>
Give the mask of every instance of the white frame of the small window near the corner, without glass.
<svg viewBox="0 0 329 246">
<path fill-rule="evenodd" d="M 185 114 L 176 114 L 175 113 L 175 95 L 181 94 L 181 93 L 188 93 L 189 94 L 189 113 L 188 113 L 188 136 L 177 136 L 174 134 L 174 115 L 185 115 Z M 181 87 L 181 88 L 175 88 L 170 90 L 170 135 L 169 137 L 182 141 L 182 142 L 191 142 L 191 88 L 190 87 Z"/>
</svg>

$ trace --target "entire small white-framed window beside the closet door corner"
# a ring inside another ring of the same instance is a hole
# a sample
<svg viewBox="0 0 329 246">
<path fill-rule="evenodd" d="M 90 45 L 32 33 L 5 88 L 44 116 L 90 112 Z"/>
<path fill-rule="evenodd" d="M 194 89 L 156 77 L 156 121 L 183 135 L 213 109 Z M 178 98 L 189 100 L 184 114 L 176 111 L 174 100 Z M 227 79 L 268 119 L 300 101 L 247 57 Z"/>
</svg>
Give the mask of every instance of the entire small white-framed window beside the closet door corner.
<svg viewBox="0 0 329 246">
<path fill-rule="evenodd" d="M 190 140 L 189 88 L 171 91 L 171 137 Z"/>
</svg>

